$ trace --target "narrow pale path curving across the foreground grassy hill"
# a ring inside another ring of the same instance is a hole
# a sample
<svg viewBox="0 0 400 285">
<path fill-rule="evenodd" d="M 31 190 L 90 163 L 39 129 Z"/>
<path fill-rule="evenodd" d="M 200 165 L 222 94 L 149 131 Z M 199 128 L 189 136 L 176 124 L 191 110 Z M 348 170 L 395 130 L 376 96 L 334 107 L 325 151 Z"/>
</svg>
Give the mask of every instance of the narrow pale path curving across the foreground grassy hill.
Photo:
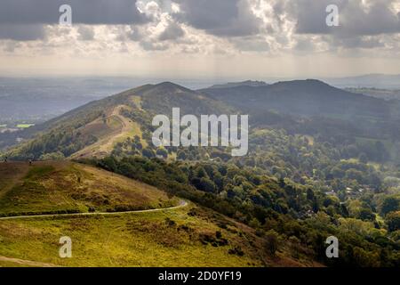
<svg viewBox="0 0 400 285">
<path fill-rule="evenodd" d="M 48 214 L 48 215 L 31 215 L 31 216 L 4 216 L 0 217 L 0 221 L 3 220 L 15 220 L 15 219 L 25 219 L 25 218 L 37 218 L 37 217 L 57 217 L 57 216 L 111 216 L 111 215 L 121 215 L 121 214 L 140 214 L 140 213 L 151 213 L 151 212 L 161 212 L 165 210 L 173 210 L 177 208 L 184 208 L 188 206 L 188 202 L 181 199 L 180 205 L 173 206 L 169 208 L 152 208 L 148 210 L 136 210 L 136 211 L 125 211 L 125 212 L 104 212 L 104 213 L 75 213 L 75 214 Z"/>
</svg>

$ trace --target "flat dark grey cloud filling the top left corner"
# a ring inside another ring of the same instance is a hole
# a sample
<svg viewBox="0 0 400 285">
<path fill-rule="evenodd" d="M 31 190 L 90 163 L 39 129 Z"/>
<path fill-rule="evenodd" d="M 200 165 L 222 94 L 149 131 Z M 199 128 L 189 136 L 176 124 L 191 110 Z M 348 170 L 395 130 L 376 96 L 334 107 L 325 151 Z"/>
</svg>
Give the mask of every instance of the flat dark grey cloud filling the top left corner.
<svg viewBox="0 0 400 285">
<path fill-rule="evenodd" d="M 140 24 L 148 21 L 136 0 L 1 0 L 0 25 L 55 24 L 61 4 L 72 7 L 72 20 L 82 24 Z"/>
</svg>

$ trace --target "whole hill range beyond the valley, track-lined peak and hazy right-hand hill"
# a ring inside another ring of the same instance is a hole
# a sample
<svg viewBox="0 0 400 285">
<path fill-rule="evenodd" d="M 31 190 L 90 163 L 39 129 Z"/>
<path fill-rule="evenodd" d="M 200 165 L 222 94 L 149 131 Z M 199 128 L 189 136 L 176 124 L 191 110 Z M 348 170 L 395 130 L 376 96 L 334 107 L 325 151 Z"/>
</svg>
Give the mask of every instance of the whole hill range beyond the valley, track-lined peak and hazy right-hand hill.
<svg viewBox="0 0 400 285">
<path fill-rule="evenodd" d="M 368 132 L 391 122 L 388 129 L 393 133 L 400 117 L 398 102 L 350 93 L 314 79 L 273 85 L 245 81 L 197 91 L 164 82 L 90 102 L 5 139 L 0 136 L 0 148 L 15 143 L 12 135 L 24 139 L 6 152 L 14 159 L 103 157 L 116 143 L 135 136 L 146 147 L 154 130 L 152 118 L 157 114 L 171 116 L 173 107 L 180 107 L 181 115 L 245 113 L 250 115 L 251 124 L 267 124 L 272 119 L 287 126 L 292 125 L 290 118 L 317 116 L 343 120 L 347 129 L 349 123 L 355 123 Z"/>
</svg>

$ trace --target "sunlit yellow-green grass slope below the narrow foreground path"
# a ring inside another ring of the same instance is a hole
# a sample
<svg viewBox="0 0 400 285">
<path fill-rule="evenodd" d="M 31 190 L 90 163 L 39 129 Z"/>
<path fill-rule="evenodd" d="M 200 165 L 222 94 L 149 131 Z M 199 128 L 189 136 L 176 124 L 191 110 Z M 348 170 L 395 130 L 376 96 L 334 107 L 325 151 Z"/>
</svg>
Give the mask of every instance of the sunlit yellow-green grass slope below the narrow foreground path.
<svg viewBox="0 0 400 285">
<path fill-rule="evenodd" d="M 61 236 L 72 258 L 59 257 Z M 156 213 L 0 220 L 0 256 L 62 266 L 303 266 L 253 230 L 193 204 Z"/>
</svg>

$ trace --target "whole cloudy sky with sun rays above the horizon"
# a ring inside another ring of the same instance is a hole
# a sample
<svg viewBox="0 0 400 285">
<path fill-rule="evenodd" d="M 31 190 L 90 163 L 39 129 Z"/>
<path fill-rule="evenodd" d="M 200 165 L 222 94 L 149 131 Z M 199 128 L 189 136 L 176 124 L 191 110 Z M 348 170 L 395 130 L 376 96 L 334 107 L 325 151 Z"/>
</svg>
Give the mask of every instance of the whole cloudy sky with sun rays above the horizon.
<svg viewBox="0 0 400 285">
<path fill-rule="evenodd" d="M 60 25 L 68 4 L 72 25 Z M 339 26 L 326 24 L 335 4 Z M 400 74 L 400 0 L 1 0 L 0 76 Z"/>
</svg>

